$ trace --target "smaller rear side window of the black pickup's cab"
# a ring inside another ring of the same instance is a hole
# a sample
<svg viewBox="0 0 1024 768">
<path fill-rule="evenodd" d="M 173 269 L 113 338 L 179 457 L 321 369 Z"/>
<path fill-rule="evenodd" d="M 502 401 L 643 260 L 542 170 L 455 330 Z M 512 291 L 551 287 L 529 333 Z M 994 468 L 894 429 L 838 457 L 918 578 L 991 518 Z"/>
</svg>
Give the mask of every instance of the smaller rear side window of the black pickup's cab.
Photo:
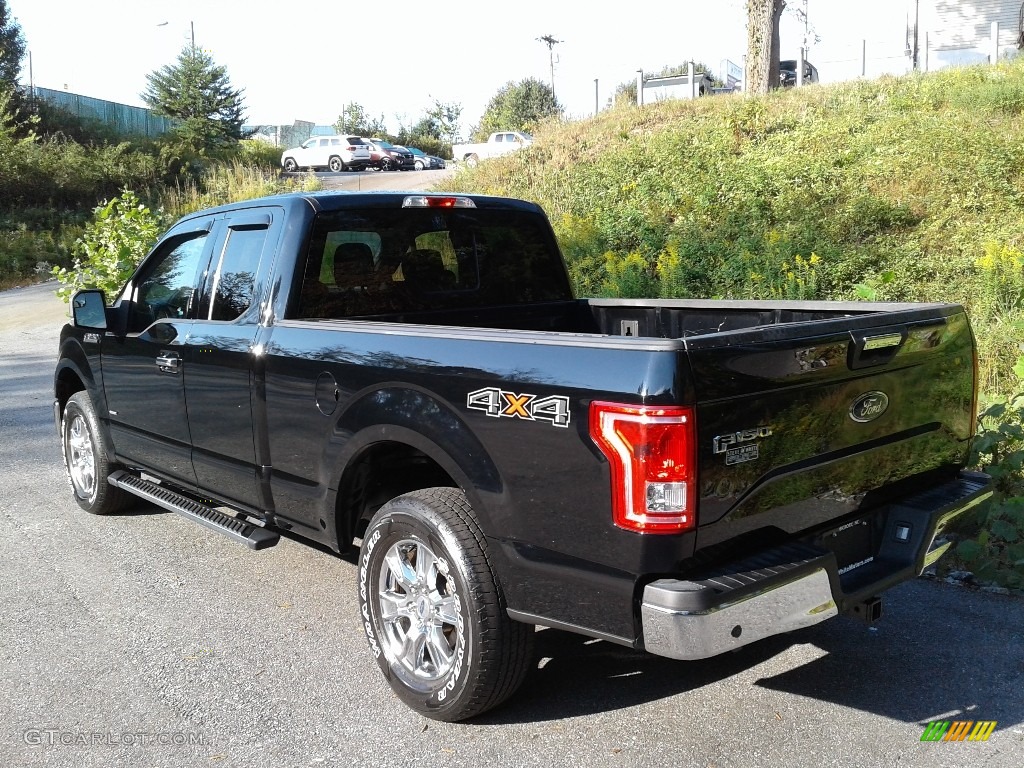
<svg viewBox="0 0 1024 768">
<path fill-rule="evenodd" d="M 227 242 L 220 253 L 216 269 L 211 270 L 212 283 L 200 307 L 200 315 L 212 321 L 233 321 L 252 306 L 256 298 L 256 274 L 266 243 L 267 228 L 230 227 Z"/>
</svg>

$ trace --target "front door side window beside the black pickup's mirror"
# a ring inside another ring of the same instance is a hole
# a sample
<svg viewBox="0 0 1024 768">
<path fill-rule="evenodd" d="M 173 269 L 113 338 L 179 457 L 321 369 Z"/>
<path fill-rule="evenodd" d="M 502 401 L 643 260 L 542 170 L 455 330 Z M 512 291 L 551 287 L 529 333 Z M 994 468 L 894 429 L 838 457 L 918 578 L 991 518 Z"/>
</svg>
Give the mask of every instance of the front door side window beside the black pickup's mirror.
<svg viewBox="0 0 1024 768">
<path fill-rule="evenodd" d="M 158 319 L 187 317 L 196 292 L 200 257 L 207 232 L 190 232 L 164 244 L 163 252 L 136 279 L 129 333 L 140 333 Z"/>
</svg>

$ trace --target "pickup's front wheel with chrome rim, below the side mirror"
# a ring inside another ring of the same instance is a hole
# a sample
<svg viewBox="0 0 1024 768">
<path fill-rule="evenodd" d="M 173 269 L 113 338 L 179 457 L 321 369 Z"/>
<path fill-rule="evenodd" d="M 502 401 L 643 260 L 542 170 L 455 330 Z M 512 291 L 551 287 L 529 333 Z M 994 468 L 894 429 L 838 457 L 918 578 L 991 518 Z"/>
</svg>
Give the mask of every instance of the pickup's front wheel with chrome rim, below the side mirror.
<svg viewBox="0 0 1024 768">
<path fill-rule="evenodd" d="M 99 419 L 86 392 L 68 398 L 60 418 L 60 447 L 75 501 L 86 512 L 109 515 L 135 501 L 131 494 L 106 481 L 117 468 L 114 453 L 103 439 Z"/>
</svg>

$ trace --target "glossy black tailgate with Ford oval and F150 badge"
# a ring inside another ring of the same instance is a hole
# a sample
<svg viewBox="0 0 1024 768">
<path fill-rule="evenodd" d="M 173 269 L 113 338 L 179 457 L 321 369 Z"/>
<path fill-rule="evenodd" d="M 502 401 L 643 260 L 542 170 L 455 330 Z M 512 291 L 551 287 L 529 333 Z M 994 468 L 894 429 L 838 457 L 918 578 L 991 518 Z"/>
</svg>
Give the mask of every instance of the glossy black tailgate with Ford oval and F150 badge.
<svg viewBox="0 0 1024 768">
<path fill-rule="evenodd" d="M 820 527 L 963 466 L 975 378 L 963 311 L 830 325 L 687 340 L 697 396 L 697 549 L 755 531 L 764 544 L 773 534 Z"/>
</svg>

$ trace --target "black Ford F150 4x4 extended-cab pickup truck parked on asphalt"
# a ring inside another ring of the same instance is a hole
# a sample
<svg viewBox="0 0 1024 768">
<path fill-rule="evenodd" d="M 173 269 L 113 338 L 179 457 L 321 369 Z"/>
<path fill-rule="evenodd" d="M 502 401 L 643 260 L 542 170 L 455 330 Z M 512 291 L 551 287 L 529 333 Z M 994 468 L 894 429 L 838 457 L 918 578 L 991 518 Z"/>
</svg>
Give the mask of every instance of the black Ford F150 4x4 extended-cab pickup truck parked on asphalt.
<svg viewBox="0 0 1024 768">
<path fill-rule="evenodd" d="M 536 626 L 696 659 L 877 618 L 990 495 L 959 306 L 577 299 L 522 201 L 215 208 L 72 304 L 78 503 L 357 544 L 370 650 L 439 720 L 511 695 Z"/>
</svg>

